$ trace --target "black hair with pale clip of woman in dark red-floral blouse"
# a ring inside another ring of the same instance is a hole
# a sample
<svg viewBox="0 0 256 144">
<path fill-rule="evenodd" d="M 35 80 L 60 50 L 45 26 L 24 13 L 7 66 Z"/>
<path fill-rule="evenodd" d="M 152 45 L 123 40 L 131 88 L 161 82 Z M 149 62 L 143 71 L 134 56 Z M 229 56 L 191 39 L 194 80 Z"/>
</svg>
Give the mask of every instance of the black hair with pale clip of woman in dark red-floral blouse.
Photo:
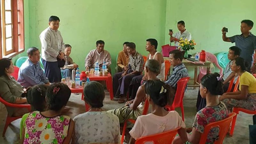
<svg viewBox="0 0 256 144">
<path fill-rule="evenodd" d="M 223 80 L 219 73 L 206 74 L 201 78 L 201 84 L 207 88 L 212 95 L 223 94 Z"/>
</svg>

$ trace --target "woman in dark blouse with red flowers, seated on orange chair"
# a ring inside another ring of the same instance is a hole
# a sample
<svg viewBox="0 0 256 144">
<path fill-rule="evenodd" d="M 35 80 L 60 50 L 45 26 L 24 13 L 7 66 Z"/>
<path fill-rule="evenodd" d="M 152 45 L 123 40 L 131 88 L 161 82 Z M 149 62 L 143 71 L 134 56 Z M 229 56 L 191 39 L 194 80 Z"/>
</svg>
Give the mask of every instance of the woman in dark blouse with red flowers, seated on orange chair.
<svg viewBox="0 0 256 144">
<path fill-rule="evenodd" d="M 197 144 L 200 141 L 201 134 L 204 132 L 204 127 L 216 121 L 223 120 L 228 117 L 228 109 L 221 102 L 218 95 L 223 93 L 223 84 L 220 74 L 207 74 L 201 79 L 200 95 L 206 98 L 206 107 L 196 113 L 193 123 L 192 133 L 188 135 L 188 141 Z M 213 144 L 219 137 L 219 128 L 212 128 L 206 140 L 206 144 Z"/>
</svg>

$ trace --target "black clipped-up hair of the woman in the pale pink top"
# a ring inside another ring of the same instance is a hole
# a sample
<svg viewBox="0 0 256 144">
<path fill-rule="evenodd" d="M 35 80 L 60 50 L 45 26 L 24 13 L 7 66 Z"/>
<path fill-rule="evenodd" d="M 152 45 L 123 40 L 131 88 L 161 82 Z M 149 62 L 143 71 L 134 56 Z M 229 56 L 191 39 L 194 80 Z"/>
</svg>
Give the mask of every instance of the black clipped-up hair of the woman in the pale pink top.
<svg viewBox="0 0 256 144">
<path fill-rule="evenodd" d="M 172 92 L 169 84 L 160 80 L 148 80 L 145 84 L 145 91 L 159 107 L 172 105 L 175 92 Z"/>
</svg>

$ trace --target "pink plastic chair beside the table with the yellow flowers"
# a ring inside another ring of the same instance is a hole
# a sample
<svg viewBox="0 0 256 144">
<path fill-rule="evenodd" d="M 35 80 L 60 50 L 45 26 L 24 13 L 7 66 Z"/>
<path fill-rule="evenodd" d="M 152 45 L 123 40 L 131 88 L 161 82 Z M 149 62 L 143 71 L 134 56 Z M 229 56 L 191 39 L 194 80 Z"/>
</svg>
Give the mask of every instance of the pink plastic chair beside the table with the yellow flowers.
<svg viewBox="0 0 256 144">
<path fill-rule="evenodd" d="M 199 53 L 199 55 L 200 55 L 200 53 Z M 210 53 L 210 52 L 206 52 L 206 60 L 211 61 L 217 68 L 219 68 L 220 69 L 220 76 L 222 76 L 223 70 L 220 67 L 219 63 L 218 63 L 217 57 L 214 54 Z M 207 68 L 206 67 L 199 67 L 199 75 L 197 76 L 197 82 L 198 83 L 200 83 L 201 78 L 204 75 L 206 75 L 206 73 L 207 73 Z M 210 71 L 210 73 L 211 73 L 211 71 Z"/>
</svg>

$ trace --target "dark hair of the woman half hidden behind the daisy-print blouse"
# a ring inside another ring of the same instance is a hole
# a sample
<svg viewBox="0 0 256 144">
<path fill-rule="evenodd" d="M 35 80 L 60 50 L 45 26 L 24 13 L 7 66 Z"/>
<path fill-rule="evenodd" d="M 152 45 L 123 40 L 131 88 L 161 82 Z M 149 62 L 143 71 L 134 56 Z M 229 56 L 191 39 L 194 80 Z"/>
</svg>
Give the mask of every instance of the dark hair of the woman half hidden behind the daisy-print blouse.
<svg viewBox="0 0 256 144">
<path fill-rule="evenodd" d="M 44 111 L 46 109 L 46 90 L 48 86 L 46 85 L 35 85 L 28 88 L 27 90 L 27 100 L 28 103 L 32 106 L 32 110 Z"/>
</svg>

